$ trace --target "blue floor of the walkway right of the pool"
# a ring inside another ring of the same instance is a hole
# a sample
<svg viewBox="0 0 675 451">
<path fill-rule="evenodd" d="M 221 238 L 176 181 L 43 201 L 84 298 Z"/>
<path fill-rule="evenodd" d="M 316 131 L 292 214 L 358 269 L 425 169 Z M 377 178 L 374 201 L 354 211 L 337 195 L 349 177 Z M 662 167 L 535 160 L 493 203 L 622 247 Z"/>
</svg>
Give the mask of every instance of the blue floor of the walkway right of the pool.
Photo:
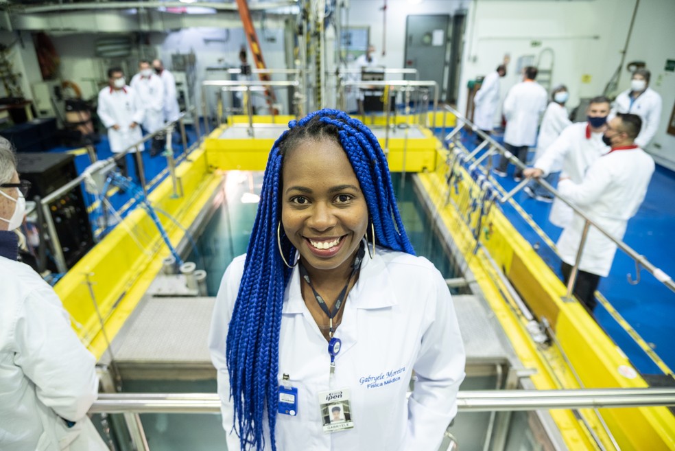
<svg viewBox="0 0 675 451">
<path fill-rule="evenodd" d="M 495 139 L 501 142 L 502 137 L 497 133 Z M 469 150 L 475 148 L 472 135 L 462 135 L 462 143 Z M 513 167 L 510 167 L 506 178 L 497 177 L 507 191 L 517 185 L 510 176 L 512 170 Z M 673 193 L 675 173 L 657 165 L 643 204 L 635 217 L 628 222 L 624 242 L 656 267 L 675 277 L 675 240 L 670 238 L 675 227 L 675 203 L 671 200 Z M 514 200 L 554 242 L 558 240 L 562 229 L 548 222 L 551 204 L 534 200 L 524 192 L 517 193 Z M 560 259 L 555 253 L 541 242 L 541 238 L 517 211 L 509 205 L 501 207 L 526 240 L 532 244 L 540 244 L 538 252 L 560 277 Z M 672 339 L 675 336 L 675 293 L 645 270 L 641 272 L 641 281 L 637 285 L 628 283 L 628 274 L 635 279 L 635 262 L 622 251 L 617 251 L 611 273 L 600 281 L 598 290 L 650 344 L 663 362 L 670 369 L 675 369 L 675 343 Z M 595 316 L 600 326 L 624 351 L 638 371 L 647 375 L 662 373 L 602 305 L 597 306 Z"/>
</svg>

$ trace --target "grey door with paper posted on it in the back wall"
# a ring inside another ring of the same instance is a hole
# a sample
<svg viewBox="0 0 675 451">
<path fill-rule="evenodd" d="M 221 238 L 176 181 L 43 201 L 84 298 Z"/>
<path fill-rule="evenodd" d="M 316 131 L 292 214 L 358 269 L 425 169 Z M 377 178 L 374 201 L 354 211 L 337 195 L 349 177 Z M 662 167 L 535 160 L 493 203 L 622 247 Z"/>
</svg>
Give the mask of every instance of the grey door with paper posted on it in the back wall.
<svg viewBox="0 0 675 451">
<path fill-rule="evenodd" d="M 449 14 L 410 15 L 405 21 L 403 67 L 417 69 L 419 80 L 434 80 L 438 84 L 439 100 L 445 99 L 449 23 Z"/>
</svg>

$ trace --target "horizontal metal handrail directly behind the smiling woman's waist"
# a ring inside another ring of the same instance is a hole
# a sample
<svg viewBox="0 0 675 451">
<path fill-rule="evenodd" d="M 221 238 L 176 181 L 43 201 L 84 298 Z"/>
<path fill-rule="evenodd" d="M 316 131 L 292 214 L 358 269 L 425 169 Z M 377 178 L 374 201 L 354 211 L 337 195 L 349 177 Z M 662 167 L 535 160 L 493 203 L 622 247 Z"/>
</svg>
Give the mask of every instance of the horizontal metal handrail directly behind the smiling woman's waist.
<svg viewBox="0 0 675 451">
<path fill-rule="evenodd" d="M 460 412 L 675 406 L 675 389 L 460 391 Z M 217 393 L 101 393 L 89 413 L 219 413 Z"/>
</svg>

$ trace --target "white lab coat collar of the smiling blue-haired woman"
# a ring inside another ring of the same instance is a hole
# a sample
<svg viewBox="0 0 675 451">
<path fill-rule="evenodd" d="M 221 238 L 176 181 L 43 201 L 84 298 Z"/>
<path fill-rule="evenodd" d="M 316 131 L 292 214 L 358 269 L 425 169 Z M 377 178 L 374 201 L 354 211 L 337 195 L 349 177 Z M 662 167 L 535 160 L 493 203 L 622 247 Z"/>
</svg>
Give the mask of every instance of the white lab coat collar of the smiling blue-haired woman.
<svg viewBox="0 0 675 451">
<path fill-rule="evenodd" d="M 370 246 L 370 251 L 372 252 L 372 244 Z M 375 256 L 372 259 L 368 252 L 364 255 L 359 280 L 351 289 L 347 298 L 353 308 L 373 310 L 398 304 L 396 294 L 391 288 L 392 281 L 390 280 L 389 271 L 382 255 L 386 252 L 390 251 L 376 246 Z M 288 283 L 288 294 L 286 299 L 284 299 L 282 313 L 303 313 L 307 307 L 305 307 L 303 294 L 300 291 L 300 270 L 298 266 L 293 268 L 293 273 Z M 345 305 L 346 307 L 347 305 Z"/>
</svg>

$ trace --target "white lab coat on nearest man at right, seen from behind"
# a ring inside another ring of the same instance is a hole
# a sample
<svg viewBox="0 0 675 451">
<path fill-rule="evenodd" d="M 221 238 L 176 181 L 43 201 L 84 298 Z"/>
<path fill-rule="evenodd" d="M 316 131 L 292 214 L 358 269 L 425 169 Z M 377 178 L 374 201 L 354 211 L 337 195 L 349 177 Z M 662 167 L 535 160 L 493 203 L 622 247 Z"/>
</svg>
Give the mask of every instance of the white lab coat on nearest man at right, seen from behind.
<svg viewBox="0 0 675 451">
<path fill-rule="evenodd" d="M 654 160 L 640 148 L 614 150 L 589 167 L 581 183 L 562 180 L 560 193 L 617 240 L 624 238 L 626 223 L 635 216 L 654 172 Z M 573 265 L 579 248 L 584 219 L 574 215 L 558 240 L 562 261 Z M 606 277 L 617 246 L 595 227 L 589 229 L 580 270 Z"/>
</svg>

